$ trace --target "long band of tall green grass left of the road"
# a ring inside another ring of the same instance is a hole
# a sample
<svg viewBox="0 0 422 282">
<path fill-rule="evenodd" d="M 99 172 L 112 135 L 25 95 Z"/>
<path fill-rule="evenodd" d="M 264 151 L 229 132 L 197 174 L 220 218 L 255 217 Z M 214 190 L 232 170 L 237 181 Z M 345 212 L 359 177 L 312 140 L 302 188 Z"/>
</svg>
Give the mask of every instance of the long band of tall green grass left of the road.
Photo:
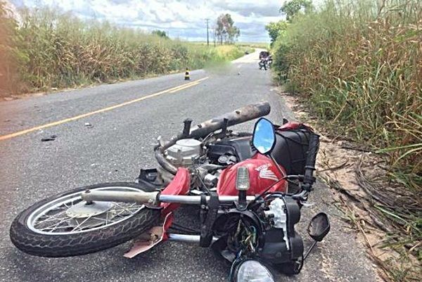
<svg viewBox="0 0 422 282">
<path fill-rule="evenodd" d="M 115 82 L 243 56 L 237 46 L 207 48 L 49 9 L 22 11 L 21 18 L 18 25 L 6 17 L 0 1 L 0 93 Z"/>
</svg>

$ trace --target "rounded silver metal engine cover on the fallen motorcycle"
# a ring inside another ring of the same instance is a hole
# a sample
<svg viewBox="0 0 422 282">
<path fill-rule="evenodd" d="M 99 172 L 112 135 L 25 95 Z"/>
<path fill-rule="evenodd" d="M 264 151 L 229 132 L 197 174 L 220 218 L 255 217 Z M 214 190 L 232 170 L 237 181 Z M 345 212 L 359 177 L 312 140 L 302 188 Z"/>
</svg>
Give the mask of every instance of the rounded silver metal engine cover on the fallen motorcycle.
<svg viewBox="0 0 422 282">
<path fill-rule="evenodd" d="M 175 166 L 192 165 L 200 155 L 200 144 L 196 139 L 181 139 L 166 150 L 165 158 Z"/>
</svg>

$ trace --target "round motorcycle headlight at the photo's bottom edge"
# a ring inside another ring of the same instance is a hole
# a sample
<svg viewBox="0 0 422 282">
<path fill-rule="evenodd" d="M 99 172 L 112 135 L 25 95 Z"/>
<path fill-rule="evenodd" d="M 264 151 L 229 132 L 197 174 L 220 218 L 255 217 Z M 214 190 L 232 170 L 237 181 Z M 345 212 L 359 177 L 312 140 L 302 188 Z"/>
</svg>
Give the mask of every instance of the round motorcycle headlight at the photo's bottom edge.
<svg viewBox="0 0 422 282">
<path fill-rule="evenodd" d="M 274 282 L 274 278 L 263 264 L 256 260 L 246 260 L 238 266 L 236 282 Z"/>
</svg>

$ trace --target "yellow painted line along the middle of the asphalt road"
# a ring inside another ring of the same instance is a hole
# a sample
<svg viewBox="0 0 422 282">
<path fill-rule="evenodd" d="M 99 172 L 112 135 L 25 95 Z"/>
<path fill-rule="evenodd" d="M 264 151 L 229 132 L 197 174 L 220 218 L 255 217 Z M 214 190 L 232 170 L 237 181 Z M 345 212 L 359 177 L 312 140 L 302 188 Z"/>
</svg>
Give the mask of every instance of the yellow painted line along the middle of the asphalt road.
<svg viewBox="0 0 422 282">
<path fill-rule="evenodd" d="M 2 136 L 0 136 L 0 141 L 6 140 L 6 139 L 11 139 L 13 137 L 20 136 L 20 135 L 23 135 L 23 134 L 27 134 L 27 133 L 30 133 L 30 132 L 34 132 L 34 131 L 37 131 L 39 129 L 44 129 L 44 128 L 47 128 L 47 127 L 53 127 L 53 126 L 56 126 L 58 124 L 63 124 L 63 123 L 66 123 L 66 122 L 72 122 L 74 120 L 80 120 L 80 119 L 82 119 L 84 117 L 89 117 L 90 115 L 96 115 L 98 113 L 108 112 L 109 110 L 114 110 L 116 108 L 123 107 L 124 105 L 130 105 L 132 103 L 143 101 L 143 100 L 146 100 L 148 98 L 153 98 L 153 97 L 159 96 L 161 94 L 174 93 L 176 91 L 179 91 L 179 90 L 182 90 L 182 89 L 186 89 L 186 88 L 191 87 L 191 86 L 198 85 L 198 84 L 200 84 L 200 82 L 202 82 L 203 80 L 208 79 L 208 78 L 209 77 L 203 77 L 203 78 L 198 79 L 198 80 L 196 80 L 194 82 L 185 83 L 185 84 L 182 84 L 182 85 L 179 85 L 179 86 L 175 86 L 175 87 L 172 87 L 170 89 L 166 89 L 166 90 L 163 90 L 163 91 L 154 93 L 154 94 L 143 96 L 141 98 L 136 98 L 136 99 L 131 100 L 131 101 L 127 101 L 127 102 L 120 103 L 120 104 L 117 104 L 117 105 L 112 105 L 112 106 L 106 107 L 106 108 L 101 108 L 99 110 L 94 110 L 93 112 L 84 113 L 82 115 L 76 115 L 75 117 L 69 117 L 69 118 L 66 118 L 64 120 L 58 120 L 56 122 L 50 122 L 50 123 L 47 123 L 47 124 L 42 124 L 42 125 L 39 125 L 37 127 L 32 127 L 30 129 L 22 130 L 20 132 L 14 132 L 14 133 L 11 133 L 11 134 L 2 135 Z"/>
</svg>

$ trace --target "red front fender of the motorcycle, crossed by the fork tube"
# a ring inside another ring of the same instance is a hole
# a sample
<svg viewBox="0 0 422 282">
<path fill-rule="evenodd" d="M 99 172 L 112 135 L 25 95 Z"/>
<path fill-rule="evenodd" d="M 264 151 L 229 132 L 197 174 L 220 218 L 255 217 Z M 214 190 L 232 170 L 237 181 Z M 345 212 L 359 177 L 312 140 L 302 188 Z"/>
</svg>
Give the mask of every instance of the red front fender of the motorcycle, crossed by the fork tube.
<svg viewBox="0 0 422 282">
<path fill-rule="evenodd" d="M 162 195 L 186 195 L 191 186 L 191 177 L 189 176 L 188 169 L 180 167 L 177 174 L 174 176 L 172 182 L 161 191 Z M 173 212 L 180 205 L 177 203 L 161 203 L 162 212 L 161 217 L 164 218 L 170 212 Z"/>
</svg>

